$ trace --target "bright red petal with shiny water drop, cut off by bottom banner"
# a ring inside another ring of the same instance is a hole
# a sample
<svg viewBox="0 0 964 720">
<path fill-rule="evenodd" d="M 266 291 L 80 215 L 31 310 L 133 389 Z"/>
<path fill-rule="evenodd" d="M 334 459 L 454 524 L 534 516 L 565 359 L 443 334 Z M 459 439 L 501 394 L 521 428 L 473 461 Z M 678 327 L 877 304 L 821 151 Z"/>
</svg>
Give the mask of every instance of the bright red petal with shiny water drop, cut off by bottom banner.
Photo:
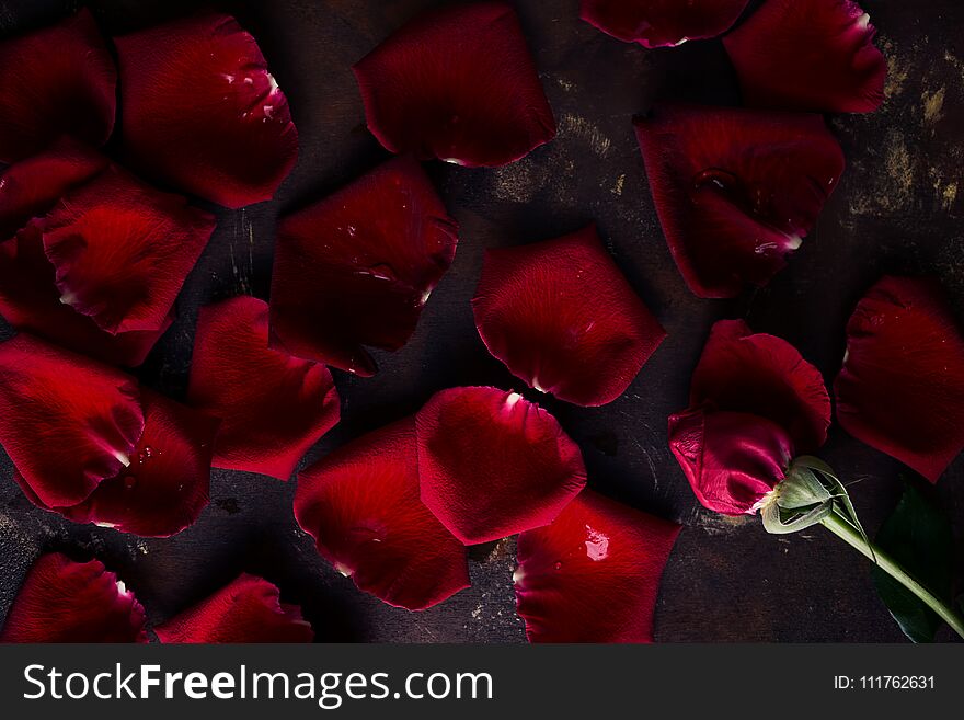
<svg viewBox="0 0 964 720">
<path fill-rule="evenodd" d="M 519 536 L 513 579 L 530 642 L 652 642 L 663 568 L 680 526 L 584 490 Z"/>
</svg>

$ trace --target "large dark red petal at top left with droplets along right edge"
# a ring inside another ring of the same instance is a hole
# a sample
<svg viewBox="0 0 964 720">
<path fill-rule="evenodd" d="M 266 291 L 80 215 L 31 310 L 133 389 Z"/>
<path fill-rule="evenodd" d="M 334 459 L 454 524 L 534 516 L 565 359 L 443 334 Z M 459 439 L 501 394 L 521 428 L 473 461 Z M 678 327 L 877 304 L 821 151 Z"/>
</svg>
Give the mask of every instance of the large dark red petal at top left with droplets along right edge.
<svg viewBox="0 0 964 720">
<path fill-rule="evenodd" d="M 116 38 L 124 147 L 227 207 L 271 199 L 298 156 L 288 101 L 238 22 L 199 14 Z"/>
</svg>

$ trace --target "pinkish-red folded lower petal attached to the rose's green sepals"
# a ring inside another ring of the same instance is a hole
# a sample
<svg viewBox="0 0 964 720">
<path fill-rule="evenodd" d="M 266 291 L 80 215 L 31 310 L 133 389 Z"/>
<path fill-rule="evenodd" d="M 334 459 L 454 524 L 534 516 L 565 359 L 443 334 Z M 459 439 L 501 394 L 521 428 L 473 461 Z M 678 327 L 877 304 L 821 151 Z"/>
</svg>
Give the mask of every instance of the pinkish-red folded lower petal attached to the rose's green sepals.
<svg viewBox="0 0 964 720">
<path fill-rule="evenodd" d="M 777 423 L 702 408 L 669 418 L 669 448 L 703 506 L 724 515 L 756 513 L 794 457 Z"/>
</svg>

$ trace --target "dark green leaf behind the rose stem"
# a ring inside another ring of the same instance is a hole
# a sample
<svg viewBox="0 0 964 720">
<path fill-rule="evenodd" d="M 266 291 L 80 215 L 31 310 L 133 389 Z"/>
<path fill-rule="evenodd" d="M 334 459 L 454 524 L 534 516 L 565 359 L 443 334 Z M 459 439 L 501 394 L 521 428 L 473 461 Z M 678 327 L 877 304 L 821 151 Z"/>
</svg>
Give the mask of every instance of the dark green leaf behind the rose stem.
<svg viewBox="0 0 964 720">
<path fill-rule="evenodd" d="M 908 484 L 876 545 L 940 599 L 950 599 L 954 579 L 954 536 L 946 514 Z M 877 594 L 914 642 L 933 642 L 941 619 L 880 568 L 872 571 Z"/>
</svg>

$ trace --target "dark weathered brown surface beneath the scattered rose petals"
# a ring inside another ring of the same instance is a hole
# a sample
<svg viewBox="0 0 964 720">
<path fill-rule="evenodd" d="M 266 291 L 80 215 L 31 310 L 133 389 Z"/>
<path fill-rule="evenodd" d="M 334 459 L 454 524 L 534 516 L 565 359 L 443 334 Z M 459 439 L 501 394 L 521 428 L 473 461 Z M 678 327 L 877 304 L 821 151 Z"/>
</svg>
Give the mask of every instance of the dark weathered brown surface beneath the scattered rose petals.
<svg viewBox="0 0 964 720">
<path fill-rule="evenodd" d="M 77 3 L 0 0 L 0 33 L 51 22 Z M 249 0 L 215 3 L 257 37 L 288 95 L 301 138 L 298 165 L 276 202 L 220 212 L 220 226 L 188 278 L 180 319 L 139 373 L 180 396 L 197 308 L 252 293 L 267 297 L 275 217 L 329 193 L 386 157 L 364 126 L 351 65 L 425 7 L 426 0 Z M 670 558 L 656 618 L 662 641 L 899 641 L 877 601 L 869 567 L 820 528 L 768 536 L 751 518 L 703 511 L 669 455 L 666 416 L 686 404 L 690 370 L 711 323 L 746 318 L 782 335 L 831 380 L 844 327 L 884 272 L 941 277 L 964 310 L 964 7 L 955 0 L 863 0 L 891 65 L 876 114 L 831 121 L 848 170 L 791 266 L 765 290 L 732 301 L 700 300 L 685 287 L 663 240 L 631 118 L 657 99 L 735 104 L 719 42 L 647 52 L 609 38 L 577 18 L 577 0 L 516 3 L 559 137 L 498 170 L 433 163 L 429 172 L 461 224 L 455 265 L 428 304 L 412 342 L 378 355 L 381 373 L 336 373 L 343 422 L 306 462 L 367 430 L 416 410 L 435 390 L 460 384 L 518 387 L 479 340 L 469 306 L 487 247 L 554 237 L 596 220 L 639 294 L 666 329 L 663 344 L 623 398 L 586 410 L 546 400 L 582 445 L 592 487 L 686 525 Z M 182 13 L 195 2 L 96 0 L 112 32 Z M 2 68 L 0 71 L 16 71 Z M 190 88 L 184 89 L 190 112 Z M 9 329 L 2 332 L 9 334 Z M 605 368 L 600 368 L 605 372 Z M 906 471 L 835 428 L 823 456 L 854 483 L 873 532 Z M 0 458 L 0 617 L 43 550 L 96 555 L 118 571 L 158 621 L 248 570 L 300 603 L 322 640 L 524 640 L 512 590 L 513 542 L 473 549 L 473 586 L 421 614 L 357 592 L 314 552 L 291 516 L 294 482 L 216 470 L 213 501 L 196 526 L 144 540 L 78 526 L 33 507 Z M 936 490 L 964 533 L 964 458 Z M 959 553 L 964 557 L 964 553 Z"/>
</svg>

